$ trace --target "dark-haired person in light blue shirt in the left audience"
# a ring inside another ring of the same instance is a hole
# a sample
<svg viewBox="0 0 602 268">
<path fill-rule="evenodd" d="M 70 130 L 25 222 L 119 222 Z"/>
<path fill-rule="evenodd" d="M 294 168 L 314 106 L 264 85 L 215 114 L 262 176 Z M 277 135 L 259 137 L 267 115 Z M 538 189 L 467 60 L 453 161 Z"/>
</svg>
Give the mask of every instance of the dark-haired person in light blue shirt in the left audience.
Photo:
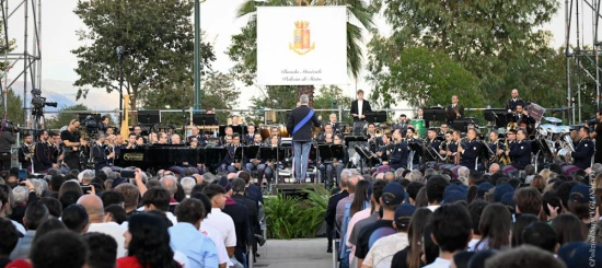
<svg viewBox="0 0 602 268">
<path fill-rule="evenodd" d="M 175 210 L 177 223 L 170 228 L 171 245 L 188 257 L 190 268 L 218 267 L 218 249 L 198 229 L 205 214 L 202 202 L 186 199 Z"/>
</svg>

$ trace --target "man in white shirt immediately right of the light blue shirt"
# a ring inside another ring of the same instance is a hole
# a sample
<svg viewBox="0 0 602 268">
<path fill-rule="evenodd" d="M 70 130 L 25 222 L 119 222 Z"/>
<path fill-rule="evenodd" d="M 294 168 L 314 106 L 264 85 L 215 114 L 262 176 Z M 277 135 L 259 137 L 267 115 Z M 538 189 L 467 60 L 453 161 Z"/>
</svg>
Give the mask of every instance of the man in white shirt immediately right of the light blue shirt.
<svg viewBox="0 0 602 268">
<path fill-rule="evenodd" d="M 221 211 L 225 207 L 225 189 L 219 185 L 211 184 L 202 189 L 202 194 L 211 200 L 211 212 L 202 222 L 220 232 L 228 250 L 228 257 L 232 258 L 234 256 L 234 247 L 236 246 L 236 230 L 232 218 Z"/>
</svg>

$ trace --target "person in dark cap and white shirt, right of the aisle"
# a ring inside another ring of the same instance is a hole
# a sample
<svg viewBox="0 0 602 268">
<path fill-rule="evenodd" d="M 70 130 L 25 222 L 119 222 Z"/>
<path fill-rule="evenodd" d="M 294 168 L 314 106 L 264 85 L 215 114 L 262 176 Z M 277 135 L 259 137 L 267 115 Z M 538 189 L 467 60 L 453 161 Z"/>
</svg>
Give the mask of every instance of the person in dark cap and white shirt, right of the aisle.
<svg viewBox="0 0 602 268">
<path fill-rule="evenodd" d="M 409 228 L 409 220 L 414 211 L 416 211 L 416 208 L 407 202 L 395 209 L 395 221 L 393 221 L 393 226 L 397 229 L 398 233 L 384 236 L 374 242 L 368 255 L 366 255 L 361 268 L 391 267 L 393 255 L 409 245 L 407 229 Z"/>
</svg>

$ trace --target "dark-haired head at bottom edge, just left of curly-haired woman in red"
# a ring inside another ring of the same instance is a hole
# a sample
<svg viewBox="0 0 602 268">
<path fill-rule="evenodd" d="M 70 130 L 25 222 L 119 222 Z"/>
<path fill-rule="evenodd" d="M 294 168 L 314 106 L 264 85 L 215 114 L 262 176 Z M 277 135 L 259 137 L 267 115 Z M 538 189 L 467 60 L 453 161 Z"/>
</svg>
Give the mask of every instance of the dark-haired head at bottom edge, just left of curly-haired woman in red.
<svg viewBox="0 0 602 268">
<path fill-rule="evenodd" d="M 92 253 L 88 255 L 88 268 L 116 268 L 117 242 L 111 235 L 103 233 L 86 233 L 83 241 Z"/>
</svg>

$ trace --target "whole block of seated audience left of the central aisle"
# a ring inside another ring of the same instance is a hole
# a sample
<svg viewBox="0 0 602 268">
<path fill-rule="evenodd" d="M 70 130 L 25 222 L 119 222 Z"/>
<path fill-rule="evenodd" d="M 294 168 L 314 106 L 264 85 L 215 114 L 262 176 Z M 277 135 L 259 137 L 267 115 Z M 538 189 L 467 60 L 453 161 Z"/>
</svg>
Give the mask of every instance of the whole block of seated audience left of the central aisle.
<svg viewBox="0 0 602 268">
<path fill-rule="evenodd" d="M 264 214 L 247 172 L 0 173 L 0 267 L 246 268 Z"/>
</svg>

